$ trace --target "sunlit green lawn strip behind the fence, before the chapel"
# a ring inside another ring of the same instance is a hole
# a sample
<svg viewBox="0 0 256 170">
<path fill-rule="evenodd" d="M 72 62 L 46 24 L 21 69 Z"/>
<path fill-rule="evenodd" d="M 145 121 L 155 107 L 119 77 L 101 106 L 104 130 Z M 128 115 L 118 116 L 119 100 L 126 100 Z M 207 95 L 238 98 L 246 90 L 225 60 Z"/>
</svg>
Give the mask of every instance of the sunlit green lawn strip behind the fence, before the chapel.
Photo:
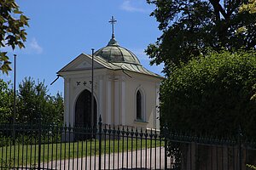
<svg viewBox="0 0 256 170">
<path fill-rule="evenodd" d="M 147 142 L 146 142 L 147 141 Z M 145 139 L 102 140 L 102 154 L 140 150 L 163 145 L 160 141 Z M 0 166 L 36 165 L 38 164 L 38 144 L 0 147 Z M 76 157 L 99 155 L 99 140 L 86 140 L 73 143 L 41 144 L 41 162 Z"/>
</svg>

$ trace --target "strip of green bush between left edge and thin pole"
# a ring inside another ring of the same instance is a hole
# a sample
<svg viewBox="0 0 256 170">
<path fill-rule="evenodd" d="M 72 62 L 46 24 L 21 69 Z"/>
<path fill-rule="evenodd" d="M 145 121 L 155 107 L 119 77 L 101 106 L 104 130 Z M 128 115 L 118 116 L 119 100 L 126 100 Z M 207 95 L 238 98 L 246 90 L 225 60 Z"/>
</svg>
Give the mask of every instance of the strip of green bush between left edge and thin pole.
<svg viewBox="0 0 256 170">
<path fill-rule="evenodd" d="M 12 122 L 13 91 L 8 88 L 9 82 L 0 79 L 0 122 Z"/>
</svg>

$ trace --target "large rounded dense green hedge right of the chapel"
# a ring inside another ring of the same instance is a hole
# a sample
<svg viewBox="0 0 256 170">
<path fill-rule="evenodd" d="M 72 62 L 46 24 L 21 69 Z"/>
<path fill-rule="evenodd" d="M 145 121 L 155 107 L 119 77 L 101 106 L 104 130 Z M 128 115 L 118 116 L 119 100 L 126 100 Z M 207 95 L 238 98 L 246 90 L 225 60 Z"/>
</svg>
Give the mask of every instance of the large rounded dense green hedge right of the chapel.
<svg viewBox="0 0 256 170">
<path fill-rule="evenodd" d="M 175 67 L 161 85 L 161 126 L 218 136 L 237 135 L 241 126 L 256 138 L 255 75 L 253 51 L 210 53 Z"/>
</svg>

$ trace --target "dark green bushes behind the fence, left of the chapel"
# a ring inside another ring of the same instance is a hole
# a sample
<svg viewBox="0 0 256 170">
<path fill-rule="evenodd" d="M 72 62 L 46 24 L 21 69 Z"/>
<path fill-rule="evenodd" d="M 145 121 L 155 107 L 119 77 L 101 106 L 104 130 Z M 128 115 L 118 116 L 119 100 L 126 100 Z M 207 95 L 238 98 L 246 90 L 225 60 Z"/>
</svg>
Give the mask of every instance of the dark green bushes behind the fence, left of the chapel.
<svg viewBox="0 0 256 170">
<path fill-rule="evenodd" d="M 0 79 L 0 123 L 11 123 L 13 120 L 13 89 L 9 82 Z M 62 125 L 64 105 L 61 94 L 48 94 L 44 82 L 36 83 L 31 77 L 19 84 L 16 97 L 17 123 L 38 123 Z"/>
</svg>

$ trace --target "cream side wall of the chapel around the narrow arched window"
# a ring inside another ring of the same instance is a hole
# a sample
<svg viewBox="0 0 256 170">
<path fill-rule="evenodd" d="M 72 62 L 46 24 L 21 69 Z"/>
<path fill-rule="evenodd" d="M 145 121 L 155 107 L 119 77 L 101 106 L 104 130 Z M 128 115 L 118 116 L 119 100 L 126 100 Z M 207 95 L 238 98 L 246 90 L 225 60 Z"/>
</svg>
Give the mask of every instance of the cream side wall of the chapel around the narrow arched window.
<svg viewBox="0 0 256 170">
<path fill-rule="evenodd" d="M 126 123 L 133 127 L 156 128 L 156 104 L 157 91 L 156 84 L 159 80 L 139 74 L 132 74 L 126 80 Z M 136 115 L 136 94 L 141 90 L 143 95 L 143 121 L 137 120 Z M 157 127 L 159 128 L 159 127 Z"/>
</svg>

